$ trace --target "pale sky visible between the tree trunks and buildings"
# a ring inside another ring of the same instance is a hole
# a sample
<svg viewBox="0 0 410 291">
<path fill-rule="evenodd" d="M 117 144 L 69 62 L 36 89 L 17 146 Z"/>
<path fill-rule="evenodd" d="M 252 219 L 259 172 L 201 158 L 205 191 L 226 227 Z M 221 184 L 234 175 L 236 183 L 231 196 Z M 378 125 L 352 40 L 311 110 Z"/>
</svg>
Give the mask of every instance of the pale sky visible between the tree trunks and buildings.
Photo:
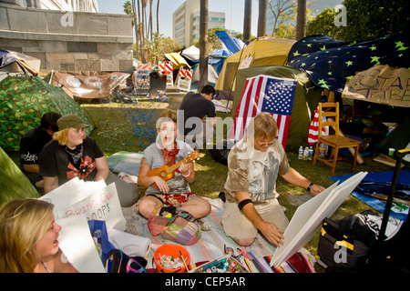
<svg viewBox="0 0 410 291">
<path fill-rule="evenodd" d="M 97 0 L 99 13 L 124 14 L 123 5 L 127 0 Z M 309 0 L 308 0 L 309 1 Z M 132 2 L 132 1 L 130 1 Z M 172 38 L 172 14 L 185 0 L 160 0 L 159 1 L 159 33 Z M 225 28 L 242 33 L 244 0 L 208 0 L 208 9 L 213 12 L 225 13 Z M 319 14 L 326 6 L 334 7 L 343 0 L 311 0 L 313 14 Z M 258 3 L 252 1 L 251 35 L 257 35 L 258 28 Z M 154 31 L 156 25 L 157 1 L 153 2 Z"/>
</svg>

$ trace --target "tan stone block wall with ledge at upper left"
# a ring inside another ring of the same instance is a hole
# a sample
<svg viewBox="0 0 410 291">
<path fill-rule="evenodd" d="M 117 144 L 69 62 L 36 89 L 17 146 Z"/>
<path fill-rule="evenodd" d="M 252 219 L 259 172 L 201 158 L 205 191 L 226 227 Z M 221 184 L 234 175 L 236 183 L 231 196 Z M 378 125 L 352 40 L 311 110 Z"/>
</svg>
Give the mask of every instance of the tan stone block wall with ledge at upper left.
<svg viewBox="0 0 410 291">
<path fill-rule="evenodd" d="M 129 15 L 0 6 L 0 48 L 41 60 L 40 70 L 132 71 Z"/>
</svg>

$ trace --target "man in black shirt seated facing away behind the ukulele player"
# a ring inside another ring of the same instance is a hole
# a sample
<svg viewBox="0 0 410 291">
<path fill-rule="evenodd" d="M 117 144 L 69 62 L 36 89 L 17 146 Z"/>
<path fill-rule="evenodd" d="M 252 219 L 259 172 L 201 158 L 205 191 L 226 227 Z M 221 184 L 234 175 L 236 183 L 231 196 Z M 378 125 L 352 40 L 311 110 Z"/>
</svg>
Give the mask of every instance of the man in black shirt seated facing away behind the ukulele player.
<svg viewBox="0 0 410 291">
<path fill-rule="evenodd" d="M 215 105 L 212 103 L 215 89 L 205 85 L 200 93 L 189 92 L 179 105 L 179 115 L 183 115 L 183 123 L 179 122 L 179 132 L 185 136 L 185 142 L 194 148 L 202 148 L 212 138 L 216 126 Z M 205 119 L 204 117 L 208 118 Z M 182 127 L 183 126 L 183 127 Z"/>
</svg>

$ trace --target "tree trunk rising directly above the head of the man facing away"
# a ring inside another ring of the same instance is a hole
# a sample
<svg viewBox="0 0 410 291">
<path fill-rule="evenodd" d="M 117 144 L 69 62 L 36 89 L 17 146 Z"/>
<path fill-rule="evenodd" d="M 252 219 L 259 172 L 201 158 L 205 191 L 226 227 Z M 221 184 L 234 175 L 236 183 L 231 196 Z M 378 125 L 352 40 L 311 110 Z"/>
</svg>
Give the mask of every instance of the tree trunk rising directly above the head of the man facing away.
<svg viewBox="0 0 410 291">
<path fill-rule="evenodd" d="M 200 84 L 208 84 L 208 0 L 200 0 Z"/>
</svg>

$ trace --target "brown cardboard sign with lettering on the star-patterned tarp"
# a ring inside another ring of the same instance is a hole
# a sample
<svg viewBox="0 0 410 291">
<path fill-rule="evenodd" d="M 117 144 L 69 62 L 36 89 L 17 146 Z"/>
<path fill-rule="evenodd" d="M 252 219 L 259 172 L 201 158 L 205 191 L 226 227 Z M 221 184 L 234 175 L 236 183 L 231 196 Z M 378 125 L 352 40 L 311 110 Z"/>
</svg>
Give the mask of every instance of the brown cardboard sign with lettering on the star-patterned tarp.
<svg viewBox="0 0 410 291">
<path fill-rule="evenodd" d="M 377 65 L 346 83 L 343 97 L 384 105 L 410 106 L 410 70 Z"/>
</svg>

